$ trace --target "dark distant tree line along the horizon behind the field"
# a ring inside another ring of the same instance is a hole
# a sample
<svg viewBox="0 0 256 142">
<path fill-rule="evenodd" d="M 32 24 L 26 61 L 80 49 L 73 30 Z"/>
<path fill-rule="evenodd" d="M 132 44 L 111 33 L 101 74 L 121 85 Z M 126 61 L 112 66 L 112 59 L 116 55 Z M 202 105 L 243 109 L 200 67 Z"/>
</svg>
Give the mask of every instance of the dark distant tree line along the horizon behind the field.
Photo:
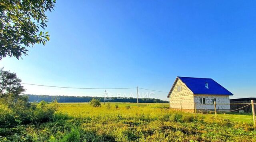
<svg viewBox="0 0 256 142">
<path fill-rule="evenodd" d="M 31 95 L 26 94 L 24 96 L 28 96 L 29 102 L 40 102 L 42 100 L 46 102 L 52 102 L 53 100 L 57 100 L 58 102 L 90 102 L 92 98 L 100 100 L 100 102 L 104 102 L 104 97 L 92 97 L 92 96 L 48 96 L 48 95 Z M 120 98 L 120 97 L 112 97 L 110 100 L 105 100 L 105 102 L 137 102 L 137 98 Z M 156 98 L 139 98 L 140 103 L 168 103 L 168 101 L 160 100 Z"/>
</svg>

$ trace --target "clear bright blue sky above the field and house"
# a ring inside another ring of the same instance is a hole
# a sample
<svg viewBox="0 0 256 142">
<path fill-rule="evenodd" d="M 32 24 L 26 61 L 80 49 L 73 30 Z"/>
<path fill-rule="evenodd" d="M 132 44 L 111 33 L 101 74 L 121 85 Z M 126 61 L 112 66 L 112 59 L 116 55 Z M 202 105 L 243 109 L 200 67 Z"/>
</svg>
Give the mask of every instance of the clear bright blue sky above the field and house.
<svg viewBox="0 0 256 142">
<path fill-rule="evenodd" d="M 23 60 L 4 58 L 0 67 L 24 83 L 88 88 L 168 92 L 176 76 L 212 78 L 234 98 L 256 97 L 255 6 L 250 0 L 58 0 L 47 14 L 50 42 L 30 48 Z M 24 86 L 28 94 L 104 93 Z"/>
</svg>

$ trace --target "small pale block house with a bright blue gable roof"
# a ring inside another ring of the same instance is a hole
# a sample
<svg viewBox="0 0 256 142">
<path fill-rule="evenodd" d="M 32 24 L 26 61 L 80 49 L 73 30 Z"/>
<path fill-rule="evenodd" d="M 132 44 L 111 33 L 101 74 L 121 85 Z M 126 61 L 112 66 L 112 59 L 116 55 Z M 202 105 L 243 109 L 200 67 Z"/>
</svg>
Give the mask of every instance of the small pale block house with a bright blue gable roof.
<svg viewBox="0 0 256 142">
<path fill-rule="evenodd" d="M 168 94 L 170 109 L 186 112 L 229 111 L 233 94 L 211 78 L 178 76 Z"/>
</svg>

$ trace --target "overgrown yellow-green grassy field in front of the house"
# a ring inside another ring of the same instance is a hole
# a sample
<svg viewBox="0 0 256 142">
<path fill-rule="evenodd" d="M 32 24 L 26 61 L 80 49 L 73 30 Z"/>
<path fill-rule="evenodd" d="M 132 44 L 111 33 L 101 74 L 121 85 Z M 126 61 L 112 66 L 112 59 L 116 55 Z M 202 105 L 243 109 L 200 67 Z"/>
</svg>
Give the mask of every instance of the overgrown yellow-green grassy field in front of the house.
<svg viewBox="0 0 256 142">
<path fill-rule="evenodd" d="M 161 104 L 59 104 L 52 121 L 20 129 L 24 140 L 35 141 L 256 141 L 251 123 L 170 111 Z"/>
</svg>

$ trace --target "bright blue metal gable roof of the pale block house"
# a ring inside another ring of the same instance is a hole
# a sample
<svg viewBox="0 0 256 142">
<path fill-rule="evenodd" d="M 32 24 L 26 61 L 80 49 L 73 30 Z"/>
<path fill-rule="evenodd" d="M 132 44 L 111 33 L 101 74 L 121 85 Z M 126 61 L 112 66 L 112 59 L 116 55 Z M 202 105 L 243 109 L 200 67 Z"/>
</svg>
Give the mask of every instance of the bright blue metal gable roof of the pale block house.
<svg viewBox="0 0 256 142">
<path fill-rule="evenodd" d="M 194 94 L 216 94 L 216 95 L 233 95 L 231 92 L 226 90 L 212 78 L 191 78 L 191 77 L 180 77 L 178 78 L 186 84 L 186 86 Z M 208 89 L 205 87 L 208 83 Z"/>
</svg>

